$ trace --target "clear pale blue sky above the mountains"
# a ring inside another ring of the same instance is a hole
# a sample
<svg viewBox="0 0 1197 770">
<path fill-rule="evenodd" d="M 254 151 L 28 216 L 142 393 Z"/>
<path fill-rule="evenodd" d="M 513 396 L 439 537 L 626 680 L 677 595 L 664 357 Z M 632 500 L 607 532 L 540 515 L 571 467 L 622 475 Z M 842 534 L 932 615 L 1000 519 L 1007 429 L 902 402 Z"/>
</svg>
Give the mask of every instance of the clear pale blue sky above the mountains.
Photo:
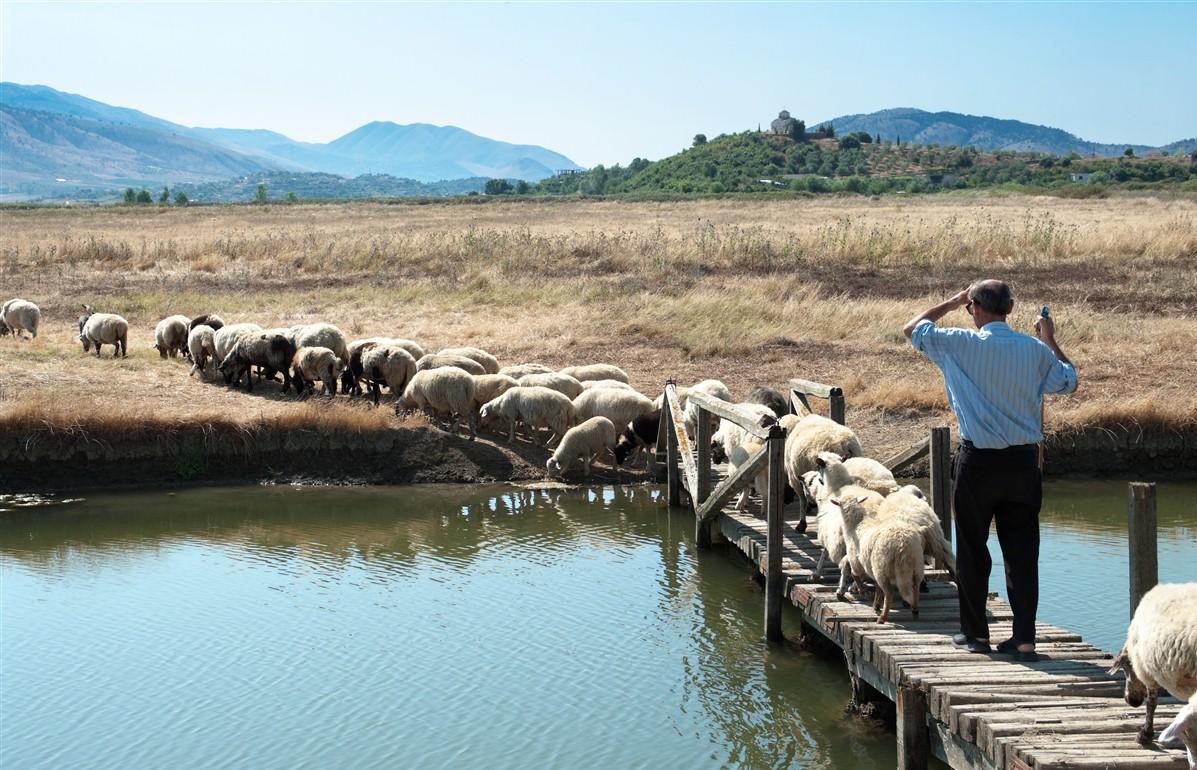
<svg viewBox="0 0 1197 770">
<path fill-rule="evenodd" d="M 575 162 L 893 107 L 1102 143 L 1197 135 L 1197 2 L 0 0 L 0 78 L 188 126 L 329 141 L 460 126 Z"/>
</svg>

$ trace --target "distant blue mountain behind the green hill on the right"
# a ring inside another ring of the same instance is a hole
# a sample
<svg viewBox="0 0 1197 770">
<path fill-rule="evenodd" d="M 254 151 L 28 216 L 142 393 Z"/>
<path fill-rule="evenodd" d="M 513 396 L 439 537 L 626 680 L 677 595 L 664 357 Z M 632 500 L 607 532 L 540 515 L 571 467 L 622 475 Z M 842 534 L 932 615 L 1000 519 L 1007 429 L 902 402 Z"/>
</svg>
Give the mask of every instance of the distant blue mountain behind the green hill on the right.
<svg viewBox="0 0 1197 770">
<path fill-rule="evenodd" d="M 1136 154 L 1148 152 L 1175 152 L 1197 146 L 1197 139 L 1185 139 L 1152 147 L 1136 144 L 1100 144 L 1086 141 L 1067 131 L 1023 123 L 1017 120 L 1002 120 L 983 115 L 962 115 L 961 113 L 926 113 L 913 108 L 897 108 L 869 113 L 867 115 L 844 115 L 830 121 L 836 133 L 846 134 L 863 131 L 871 135 L 881 134 L 882 140 L 901 138 L 916 145 L 955 145 L 958 147 L 974 146 L 980 150 L 1010 150 L 1015 152 L 1050 152 L 1081 156 L 1096 154 L 1112 157 L 1122 154 L 1131 147 Z M 814 126 L 816 123 L 812 123 Z"/>
</svg>

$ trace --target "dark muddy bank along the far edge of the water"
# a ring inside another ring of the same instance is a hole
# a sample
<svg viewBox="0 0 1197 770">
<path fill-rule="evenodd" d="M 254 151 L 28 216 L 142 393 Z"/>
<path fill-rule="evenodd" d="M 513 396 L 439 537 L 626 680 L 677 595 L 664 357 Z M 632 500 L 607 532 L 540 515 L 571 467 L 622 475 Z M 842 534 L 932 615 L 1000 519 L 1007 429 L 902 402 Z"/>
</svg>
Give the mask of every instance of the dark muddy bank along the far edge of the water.
<svg viewBox="0 0 1197 770">
<path fill-rule="evenodd" d="M 0 491 L 183 484 L 413 484 L 525 481 L 545 477 L 548 453 L 527 442 L 467 441 L 433 428 L 372 432 L 203 428 L 0 437 Z M 1049 477 L 1197 478 L 1197 428 L 1087 428 L 1057 433 Z M 916 463 L 910 475 L 925 475 Z M 596 480 L 644 480 L 596 467 Z"/>
</svg>

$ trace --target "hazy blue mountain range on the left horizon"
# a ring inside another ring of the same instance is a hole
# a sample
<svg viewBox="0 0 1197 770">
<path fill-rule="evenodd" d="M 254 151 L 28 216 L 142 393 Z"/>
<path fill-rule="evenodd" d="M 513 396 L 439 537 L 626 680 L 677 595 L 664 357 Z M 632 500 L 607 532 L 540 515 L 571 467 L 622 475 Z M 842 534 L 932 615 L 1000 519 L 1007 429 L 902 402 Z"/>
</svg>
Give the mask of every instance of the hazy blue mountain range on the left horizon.
<svg viewBox="0 0 1197 770">
<path fill-rule="evenodd" d="M 0 83 L 0 192 L 211 182 L 262 171 L 390 175 L 420 182 L 529 181 L 578 168 L 535 145 L 454 126 L 372 122 L 327 144 L 262 129 L 193 128 L 42 85 Z"/>
</svg>

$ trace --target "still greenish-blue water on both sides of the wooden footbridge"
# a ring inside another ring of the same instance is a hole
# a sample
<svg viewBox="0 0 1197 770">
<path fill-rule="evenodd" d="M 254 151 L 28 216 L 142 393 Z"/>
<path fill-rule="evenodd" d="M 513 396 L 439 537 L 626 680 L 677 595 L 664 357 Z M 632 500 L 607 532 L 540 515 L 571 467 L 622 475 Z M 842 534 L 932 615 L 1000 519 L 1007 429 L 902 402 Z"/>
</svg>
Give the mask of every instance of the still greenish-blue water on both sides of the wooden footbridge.
<svg viewBox="0 0 1197 770">
<path fill-rule="evenodd" d="M 1161 487 L 1161 580 L 1197 580 L 1195 493 Z M 1044 514 L 1040 616 L 1107 649 L 1124 495 L 1056 483 Z M 2 508 L 0 768 L 894 765 L 841 662 L 765 644 L 747 568 L 652 487 Z"/>
</svg>

